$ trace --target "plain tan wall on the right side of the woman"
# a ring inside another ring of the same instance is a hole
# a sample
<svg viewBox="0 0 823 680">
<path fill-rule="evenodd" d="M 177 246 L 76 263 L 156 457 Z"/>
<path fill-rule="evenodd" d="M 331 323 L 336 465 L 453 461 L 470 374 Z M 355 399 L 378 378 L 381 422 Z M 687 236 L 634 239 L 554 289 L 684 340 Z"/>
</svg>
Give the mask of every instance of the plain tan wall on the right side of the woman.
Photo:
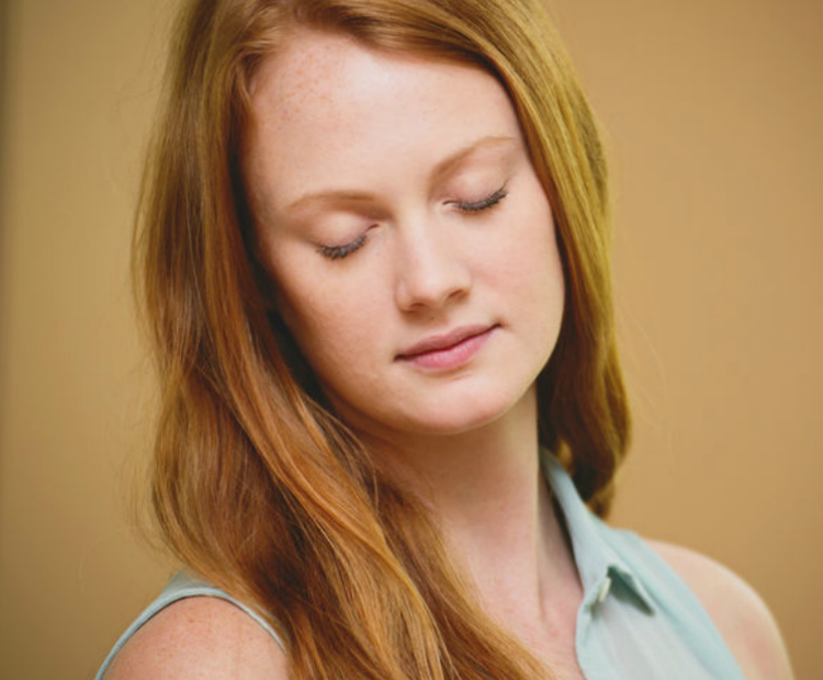
<svg viewBox="0 0 823 680">
<path fill-rule="evenodd" d="M 732 567 L 823 677 L 823 5 L 552 7 L 617 180 L 636 434 L 613 521 Z"/>
</svg>

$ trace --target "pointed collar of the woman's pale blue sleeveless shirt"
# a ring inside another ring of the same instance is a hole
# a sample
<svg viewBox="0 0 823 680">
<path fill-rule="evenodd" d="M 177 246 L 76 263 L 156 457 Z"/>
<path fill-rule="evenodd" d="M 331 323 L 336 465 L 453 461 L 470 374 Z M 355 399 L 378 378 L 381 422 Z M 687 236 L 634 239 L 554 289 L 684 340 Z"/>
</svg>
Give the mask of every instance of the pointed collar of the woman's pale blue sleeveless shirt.
<svg viewBox="0 0 823 680">
<path fill-rule="evenodd" d="M 634 596 L 629 598 L 630 601 L 640 609 L 654 612 L 656 607 L 643 583 L 610 544 L 608 532 L 612 530 L 586 507 L 568 473 L 553 455 L 543 452 L 541 460 L 552 492 L 566 520 L 577 573 L 583 583 L 584 607 L 594 608 L 609 597 L 612 581 L 617 578 Z"/>
</svg>

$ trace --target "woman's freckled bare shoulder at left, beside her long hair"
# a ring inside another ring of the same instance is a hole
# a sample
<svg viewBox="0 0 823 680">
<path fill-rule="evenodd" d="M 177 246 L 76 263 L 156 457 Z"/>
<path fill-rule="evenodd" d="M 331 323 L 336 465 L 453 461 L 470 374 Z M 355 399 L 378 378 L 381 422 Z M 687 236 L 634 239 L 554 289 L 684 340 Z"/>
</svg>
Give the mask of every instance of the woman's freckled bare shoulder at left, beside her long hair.
<svg viewBox="0 0 823 680">
<path fill-rule="evenodd" d="M 104 680 L 286 680 L 271 635 L 218 598 L 194 597 L 151 617 L 114 658 Z"/>
</svg>

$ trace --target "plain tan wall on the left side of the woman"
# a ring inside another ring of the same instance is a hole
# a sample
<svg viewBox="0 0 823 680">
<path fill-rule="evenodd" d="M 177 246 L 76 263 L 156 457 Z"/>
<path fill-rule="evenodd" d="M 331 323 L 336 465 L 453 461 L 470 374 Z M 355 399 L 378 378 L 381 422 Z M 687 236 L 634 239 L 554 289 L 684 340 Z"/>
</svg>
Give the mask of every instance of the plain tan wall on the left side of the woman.
<svg viewBox="0 0 823 680">
<path fill-rule="evenodd" d="M 91 678 L 164 579 L 126 513 L 150 398 L 128 287 L 168 2 L 7 4 L 0 678 Z"/>
</svg>

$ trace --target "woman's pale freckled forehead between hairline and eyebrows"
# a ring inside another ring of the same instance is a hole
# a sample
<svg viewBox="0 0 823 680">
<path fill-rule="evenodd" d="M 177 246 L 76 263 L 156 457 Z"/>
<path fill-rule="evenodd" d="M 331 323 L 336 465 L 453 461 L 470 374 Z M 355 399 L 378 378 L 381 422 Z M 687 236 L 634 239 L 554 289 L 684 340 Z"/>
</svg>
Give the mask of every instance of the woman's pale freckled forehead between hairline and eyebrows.
<svg viewBox="0 0 823 680">
<path fill-rule="evenodd" d="M 256 73 L 246 169 L 290 193 L 369 168 L 382 177 L 386 160 L 425 171 L 486 136 L 519 137 L 519 124 L 480 67 L 301 31 Z"/>
</svg>

